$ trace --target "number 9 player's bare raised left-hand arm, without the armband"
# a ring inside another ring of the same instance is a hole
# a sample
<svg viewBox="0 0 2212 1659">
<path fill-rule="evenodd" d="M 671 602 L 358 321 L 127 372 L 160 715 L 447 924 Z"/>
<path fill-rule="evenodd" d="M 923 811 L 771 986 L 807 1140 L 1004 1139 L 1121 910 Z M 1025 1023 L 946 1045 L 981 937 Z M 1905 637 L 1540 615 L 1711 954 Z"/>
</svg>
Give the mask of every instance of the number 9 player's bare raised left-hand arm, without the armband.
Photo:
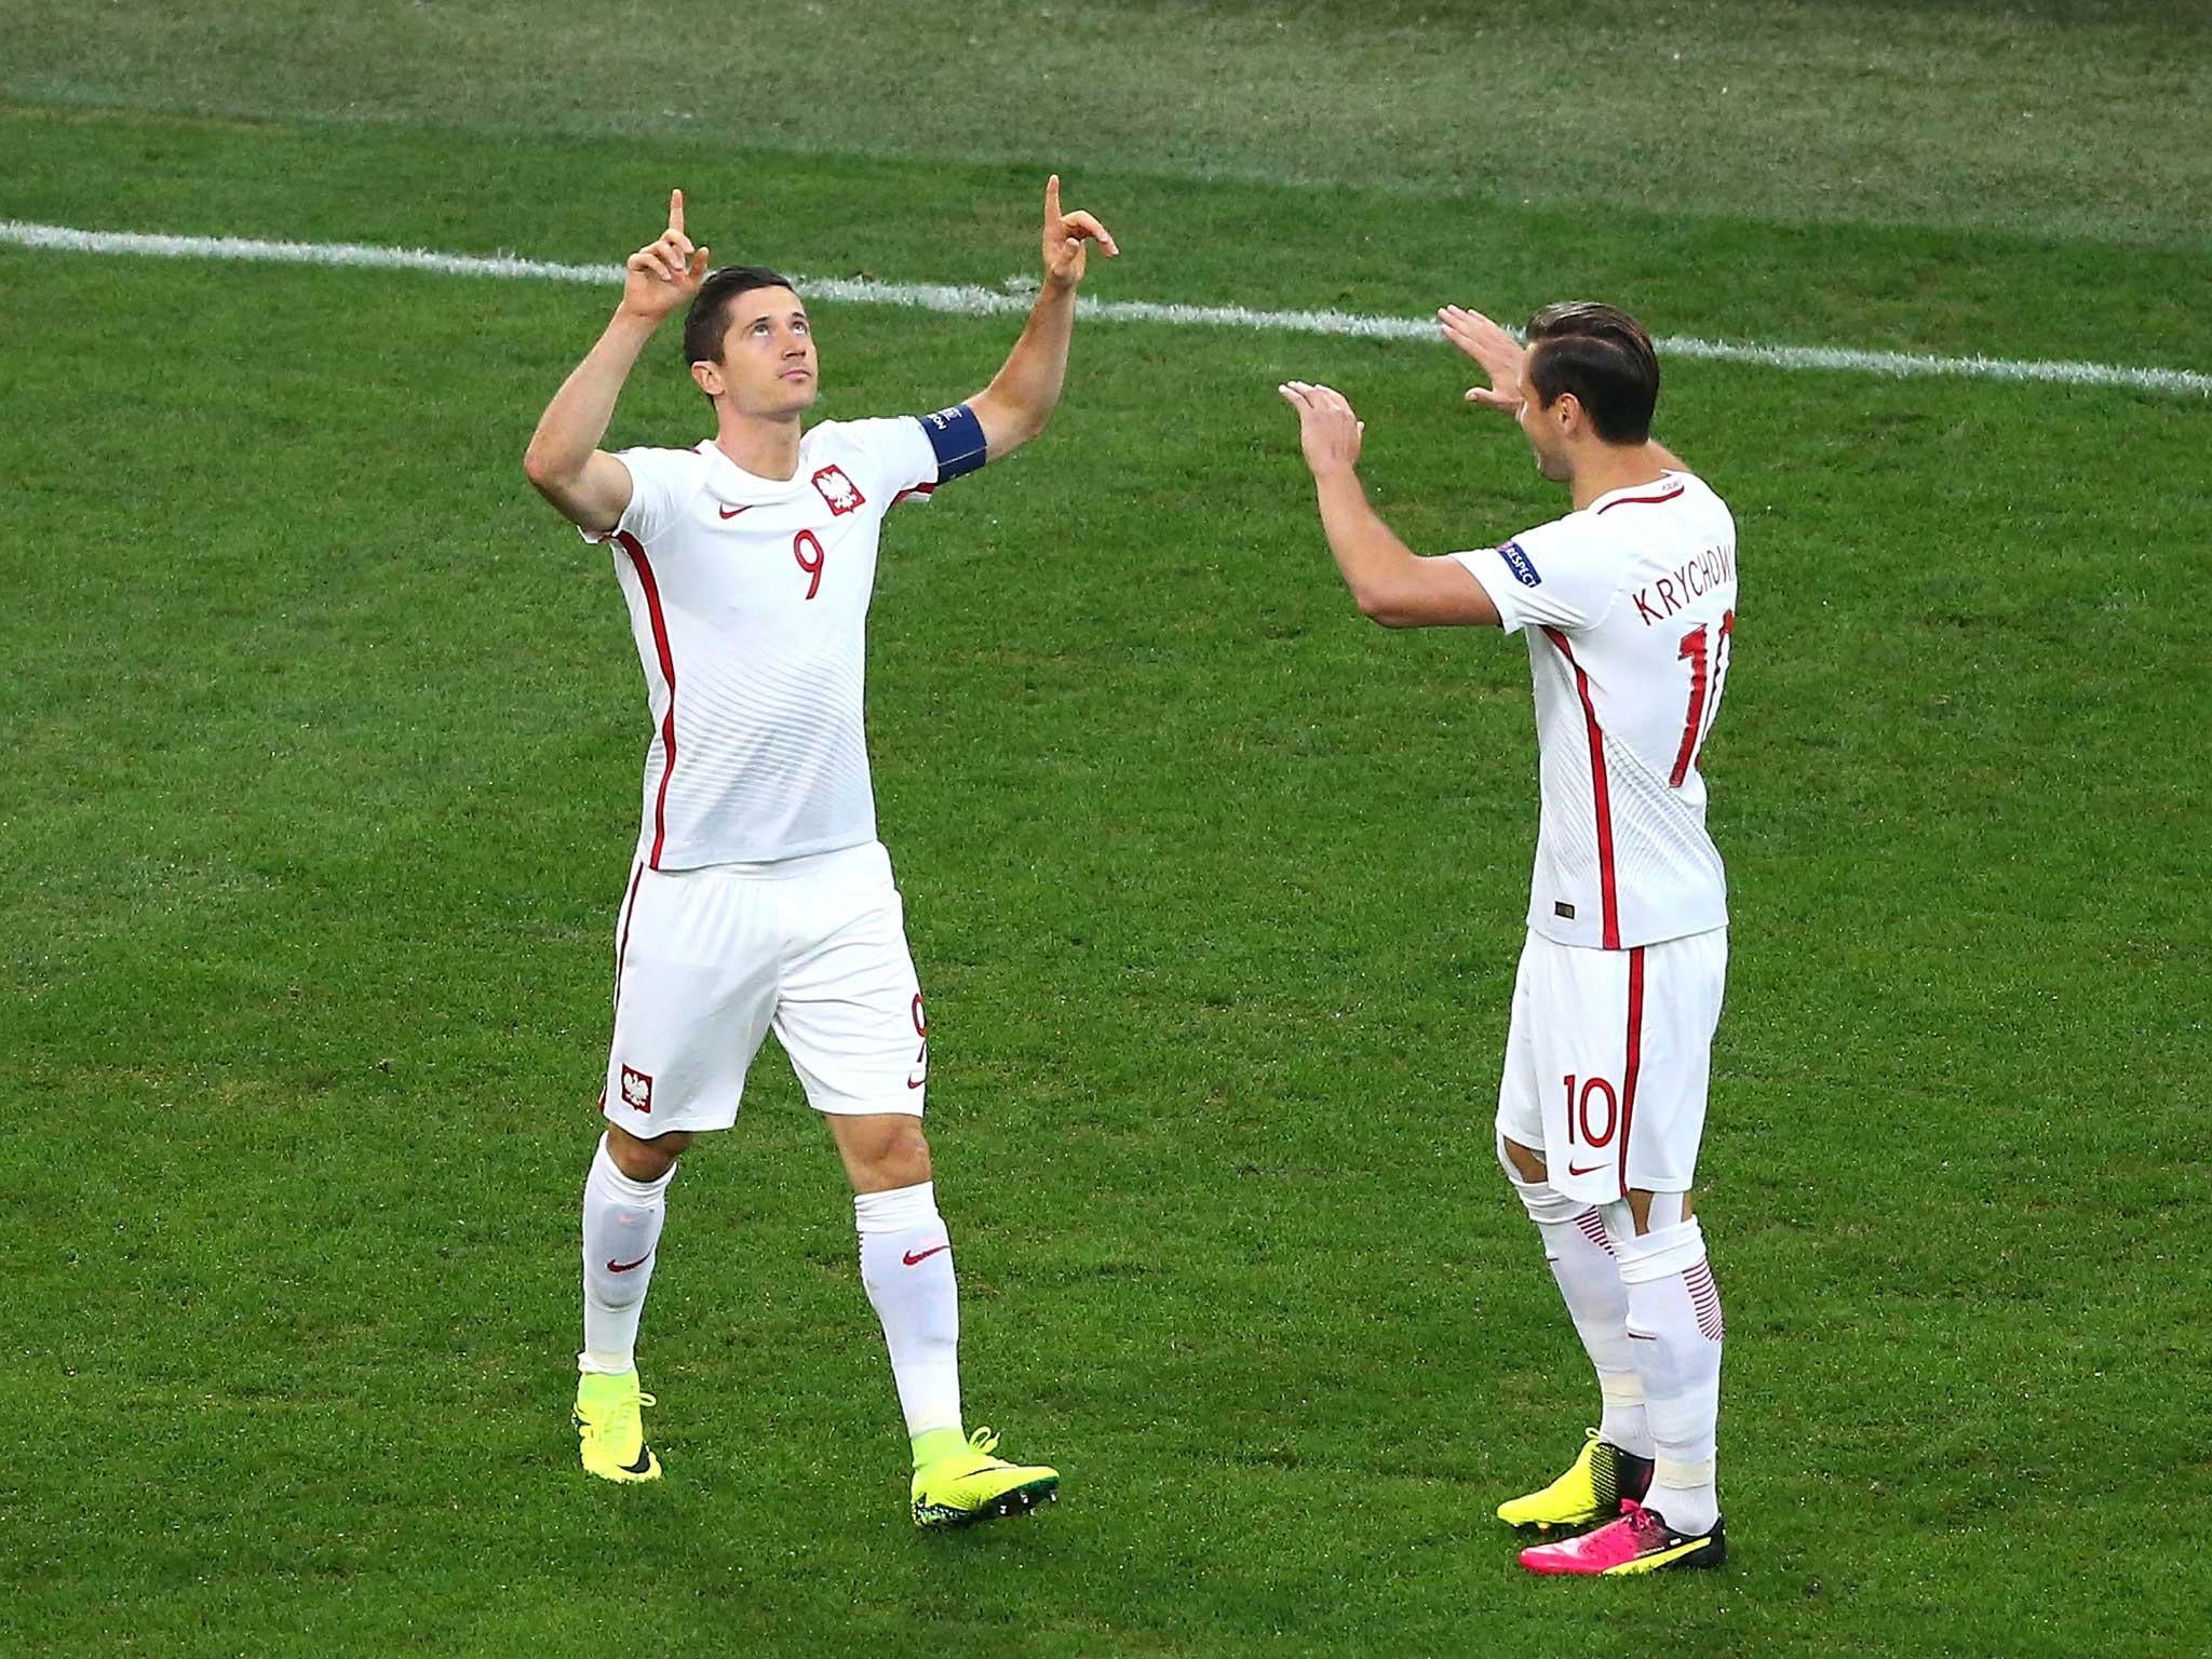
<svg viewBox="0 0 2212 1659">
<path fill-rule="evenodd" d="M 630 254 L 613 321 L 538 416 L 531 447 L 522 451 L 522 471 L 571 524 L 611 531 L 622 522 L 630 469 L 599 449 L 599 438 L 637 354 L 661 319 L 699 292 L 706 268 L 708 250 L 692 248 L 684 234 L 684 192 L 670 190 L 668 230 Z"/>
</svg>

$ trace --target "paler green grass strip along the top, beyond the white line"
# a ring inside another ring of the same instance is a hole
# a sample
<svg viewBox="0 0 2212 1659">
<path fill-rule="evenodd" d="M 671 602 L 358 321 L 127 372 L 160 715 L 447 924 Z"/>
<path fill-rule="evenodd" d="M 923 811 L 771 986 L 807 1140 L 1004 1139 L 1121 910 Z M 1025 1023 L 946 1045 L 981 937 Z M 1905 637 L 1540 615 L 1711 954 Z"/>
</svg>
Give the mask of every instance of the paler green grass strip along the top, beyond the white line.
<svg viewBox="0 0 2212 1659">
<path fill-rule="evenodd" d="M 2203 0 L 0 2 L 0 97 L 2205 250 Z M 1396 212 L 1405 212 L 1400 204 Z"/>
</svg>

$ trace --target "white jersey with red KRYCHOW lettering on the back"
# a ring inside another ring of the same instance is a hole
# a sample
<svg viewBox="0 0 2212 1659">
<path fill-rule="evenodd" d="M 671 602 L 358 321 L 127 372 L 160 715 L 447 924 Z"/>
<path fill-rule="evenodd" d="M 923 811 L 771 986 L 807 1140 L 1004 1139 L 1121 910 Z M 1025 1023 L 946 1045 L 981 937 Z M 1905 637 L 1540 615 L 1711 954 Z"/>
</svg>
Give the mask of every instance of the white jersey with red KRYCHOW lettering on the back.
<svg viewBox="0 0 2212 1659">
<path fill-rule="evenodd" d="M 1542 821 L 1528 927 L 1606 951 L 1728 925 L 1697 754 L 1736 626 L 1736 522 L 1666 473 L 1453 553 L 1528 635 Z"/>
</svg>

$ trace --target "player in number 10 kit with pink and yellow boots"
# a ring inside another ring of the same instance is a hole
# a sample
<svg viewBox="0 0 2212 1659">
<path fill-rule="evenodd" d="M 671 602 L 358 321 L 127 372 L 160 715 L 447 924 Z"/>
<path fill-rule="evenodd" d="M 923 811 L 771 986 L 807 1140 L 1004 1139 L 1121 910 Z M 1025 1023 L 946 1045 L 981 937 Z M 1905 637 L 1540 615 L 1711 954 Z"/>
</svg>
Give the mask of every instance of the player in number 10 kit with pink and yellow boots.
<svg viewBox="0 0 2212 1659">
<path fill-rule="evenodd" d="M 1610 305 L 1548 305 L 1526 349 L 1438 312 L 1573 511 L 1495 549 L 1416 557 L 1354 471 L 1365 427 L 1292 380 L 1329 553 L 1387 628 L 1528 639 L 1542 814 L 1528 940 L 1498 1088 L 1498 1157 L 1597 1367 L 1604 1416 L 1573 1467 L 1498 1509 L 1595 1531 L 1522 1551 L 1535 1573 L 1719 1566 L 1721 1301 L 1692 1212 L 1728 967 L 1699 748 L 1736 624 L 1736 526 L 1650 440 L 1659 361 Z"/>
</svg>

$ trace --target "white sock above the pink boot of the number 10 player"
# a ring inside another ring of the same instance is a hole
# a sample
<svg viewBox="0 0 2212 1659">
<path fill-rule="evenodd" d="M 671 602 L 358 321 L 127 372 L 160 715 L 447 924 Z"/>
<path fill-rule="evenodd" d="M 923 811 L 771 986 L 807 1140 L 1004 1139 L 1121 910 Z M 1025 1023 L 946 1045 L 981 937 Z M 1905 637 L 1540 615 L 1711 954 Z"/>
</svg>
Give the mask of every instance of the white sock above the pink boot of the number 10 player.
<svg viewBox="0 0 2212 1659">
<path fill-rule="evenodd" d="M 1652 1489 L 1644 1498 L 1677 1533 L 1721 1517 L 1714 1455 L 1721 1422 L 1721 1292 L 1697 1217 L 1621 1239 L 1628 1334 L 1652 1429 Z"/>
</svg>

